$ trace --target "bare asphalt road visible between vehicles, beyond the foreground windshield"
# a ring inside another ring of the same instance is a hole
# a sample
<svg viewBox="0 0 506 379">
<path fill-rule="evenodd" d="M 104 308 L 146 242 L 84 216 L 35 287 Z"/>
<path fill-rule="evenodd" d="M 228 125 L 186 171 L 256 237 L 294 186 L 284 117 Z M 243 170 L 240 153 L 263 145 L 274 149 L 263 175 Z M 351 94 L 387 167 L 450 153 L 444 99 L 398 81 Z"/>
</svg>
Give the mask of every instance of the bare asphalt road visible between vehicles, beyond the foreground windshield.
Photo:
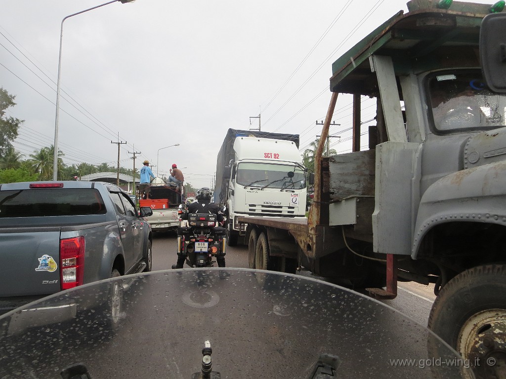
<svg viewBox="0 0 506 379">
<path fill-rule="evenodd" d="M 170 269 L 177 260 L 176 234 L 156 232 L 153 235 L 153 270 Z M 247 254 L 247 246 L 227 247 L 227 267 L 248 268 Z M 188 266 L 185 265 L 185 267 Z M 397 298 L 382 300 L 382 303 L 425 326 L 435 298 L 433 287 L 415 282 L 400 282 Z"/>
</svg>

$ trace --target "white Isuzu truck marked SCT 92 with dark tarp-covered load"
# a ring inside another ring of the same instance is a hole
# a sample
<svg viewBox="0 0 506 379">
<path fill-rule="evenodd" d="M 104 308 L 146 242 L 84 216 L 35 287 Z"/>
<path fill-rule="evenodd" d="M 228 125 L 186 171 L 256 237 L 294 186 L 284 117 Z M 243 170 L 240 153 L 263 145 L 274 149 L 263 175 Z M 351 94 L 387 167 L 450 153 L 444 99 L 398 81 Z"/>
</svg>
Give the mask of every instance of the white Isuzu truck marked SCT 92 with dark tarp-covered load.
<svg viewBox="0 0 506 379">
<path fill-rule="evenodd" d="M 306 170 L 299 135 L 229 129 L 218 153 L 214 202 L 226 207 L 227 243 L 245 227 L 237 217 L 306 217 Z"/>
</svg>

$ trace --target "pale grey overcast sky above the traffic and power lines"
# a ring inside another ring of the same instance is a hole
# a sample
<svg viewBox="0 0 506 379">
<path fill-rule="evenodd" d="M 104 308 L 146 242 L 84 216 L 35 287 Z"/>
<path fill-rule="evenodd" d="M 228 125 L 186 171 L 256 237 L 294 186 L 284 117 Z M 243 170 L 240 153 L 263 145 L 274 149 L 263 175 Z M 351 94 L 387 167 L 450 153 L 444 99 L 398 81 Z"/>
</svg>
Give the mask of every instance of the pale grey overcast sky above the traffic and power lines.
<svg viewBox="0 0 506 379">
<path fill-rule="evenodd" d="M 15 147 L 26 157 L 54 143 L 61 21 L 99 4 L 0 0 L 0 86 L 16 96 L 8 116 L 25 120 Z M 321 131 L 332 62 L 400 10 L 405 0 L 137 0 L 71 17 L 63 27 L 64 161 L 115 165 L 111 140 L 126 141 L 121 166 L 140 152 L 136 167 L 158 160 L 153 172 L 166 175 L 176 163 L 186 181 L 209 186 L 227 130 L 258 127 L 249 117 L 259 113 L 263 131 L 300 134 L 303 151 Z M 342 132 L 349 105 L 341 98 L 335 108 L 339 152 L 351 151 L 351 131 Z"/>
</svg>

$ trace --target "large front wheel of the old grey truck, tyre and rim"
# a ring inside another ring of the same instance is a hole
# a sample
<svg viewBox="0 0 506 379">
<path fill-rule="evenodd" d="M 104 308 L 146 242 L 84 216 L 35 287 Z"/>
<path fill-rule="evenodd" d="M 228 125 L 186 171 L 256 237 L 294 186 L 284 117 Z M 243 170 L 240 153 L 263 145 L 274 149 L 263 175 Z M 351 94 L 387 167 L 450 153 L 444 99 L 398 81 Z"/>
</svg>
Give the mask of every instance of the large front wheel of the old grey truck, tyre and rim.
<svg viewBox="0 0 506 379">
<path fill-rule="evenodd" d="M 506 265 L 463 271 L 443 287 L 429 328 L 470 362 L 477 378 L 500 377 L 506 365 Z M 429 353 L 439 356 L 429 339 Z"/>
</svg>

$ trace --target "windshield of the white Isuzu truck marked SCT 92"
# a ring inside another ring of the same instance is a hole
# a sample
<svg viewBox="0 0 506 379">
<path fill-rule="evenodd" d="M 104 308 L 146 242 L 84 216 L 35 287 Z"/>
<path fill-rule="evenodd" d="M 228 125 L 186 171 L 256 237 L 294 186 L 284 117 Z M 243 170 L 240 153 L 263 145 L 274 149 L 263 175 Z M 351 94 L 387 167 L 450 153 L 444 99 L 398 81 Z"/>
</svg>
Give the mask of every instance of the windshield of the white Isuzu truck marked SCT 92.
<svg viewBox="0 0 506 379">
<path fill-rule="evenodd" d="M 288 172 L 293 172 L 292 178 L 288 177 Z M 263 187 L 272 183 L 269 188 L 302 189 L 306 187 L 304 170 L 294 165 L 239 163 L 236 180 L 238 184 L 244 186 L 256 183 L 255 185 Z"/>
</svg>

